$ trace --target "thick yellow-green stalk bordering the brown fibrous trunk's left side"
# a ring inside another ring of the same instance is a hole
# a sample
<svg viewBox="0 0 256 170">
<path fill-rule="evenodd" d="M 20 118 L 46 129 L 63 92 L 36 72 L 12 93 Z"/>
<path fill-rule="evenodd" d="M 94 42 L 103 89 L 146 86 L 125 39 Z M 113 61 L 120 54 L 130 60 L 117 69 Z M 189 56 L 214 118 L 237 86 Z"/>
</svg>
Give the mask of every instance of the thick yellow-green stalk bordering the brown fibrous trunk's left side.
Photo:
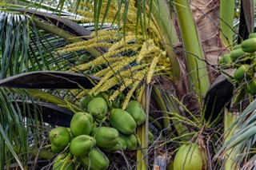
<svg viewBox="0 0 256 170">
<path fill-rule="evenodd" d="M 182 34 L 182 45 L 186 52 L 185 59 L 190 78 L 190 91 L 206 95 L 210 81 L 189 2 L 185 0 L 174 0 L 173 2 Z"/>
</svg>

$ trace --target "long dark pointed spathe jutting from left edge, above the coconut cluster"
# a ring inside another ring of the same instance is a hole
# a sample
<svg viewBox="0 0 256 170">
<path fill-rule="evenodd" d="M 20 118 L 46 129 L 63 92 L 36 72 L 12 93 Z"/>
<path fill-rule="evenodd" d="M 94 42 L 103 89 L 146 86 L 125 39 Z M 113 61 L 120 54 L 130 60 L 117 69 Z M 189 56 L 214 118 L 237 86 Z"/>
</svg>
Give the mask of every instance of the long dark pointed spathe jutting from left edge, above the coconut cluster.
<svg viewBox="0 0 256 170">
<path fill-rule="evenodd" d="M 21 89 L 91 89 L 94 87 L 93 81 L 100 81 L 100 78 L 86 76 L 82 73 L 37 71 L 21 73 L 14 77 L 3 79 L 0 81 L 0 87 Z"/>
</svg>

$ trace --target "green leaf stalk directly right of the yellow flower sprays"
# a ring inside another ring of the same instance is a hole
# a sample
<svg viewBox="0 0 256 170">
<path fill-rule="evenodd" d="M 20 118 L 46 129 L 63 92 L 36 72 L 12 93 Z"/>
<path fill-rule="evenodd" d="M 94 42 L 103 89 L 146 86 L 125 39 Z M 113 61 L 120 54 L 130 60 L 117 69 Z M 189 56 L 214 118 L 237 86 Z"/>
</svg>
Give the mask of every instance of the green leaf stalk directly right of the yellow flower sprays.
<svg viewBox="0 0 256 170">
<path fill-rule="evenodd" d="M 180 79 L 180 68 L 178 59 L 173 51 L 174 48 L 171 45 L 178 43 L 179 40 L 174 27 L 171 6 L 172 4 L 166 0 L 152 0 L 152 20 L 157 26 L 159 33 L 162 35 L 162 40 L 166 45 L 166 52 L 170 58 L 172 76 L 174 77 L 174 81 L 178 82 Z"/>
</svg>

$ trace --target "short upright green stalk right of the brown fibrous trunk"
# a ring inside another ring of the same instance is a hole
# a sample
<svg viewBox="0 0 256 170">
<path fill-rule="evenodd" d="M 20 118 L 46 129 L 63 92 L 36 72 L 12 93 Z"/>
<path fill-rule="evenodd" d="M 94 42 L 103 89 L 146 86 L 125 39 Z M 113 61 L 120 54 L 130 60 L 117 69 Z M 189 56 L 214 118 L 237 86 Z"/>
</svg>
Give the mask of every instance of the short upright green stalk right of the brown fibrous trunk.
<svg viewBox="0 0 256 170">
<path fill-rule="evenodd" d="M 226 46 L 233 42 L 234 0 L 220 1 L 221 38 Z"/>
</svg>

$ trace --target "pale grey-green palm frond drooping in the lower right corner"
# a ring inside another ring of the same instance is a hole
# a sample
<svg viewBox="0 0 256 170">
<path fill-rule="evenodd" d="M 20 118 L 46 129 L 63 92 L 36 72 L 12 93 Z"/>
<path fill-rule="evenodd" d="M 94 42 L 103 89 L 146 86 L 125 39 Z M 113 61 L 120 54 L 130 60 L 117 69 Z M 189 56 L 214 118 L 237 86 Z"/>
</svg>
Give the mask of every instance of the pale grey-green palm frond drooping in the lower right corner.
<svg viewBox="0 0 256 170">
<path fill-rule="evenodd" d="M 234 131 L 234 132 L 233 132 Z M 229 134 L 229 132 L 233 132 Z M 242 112 L 236 121 L 230 126 L 230 131 L 226 132 L 230 139 L 220 148 L 218 156 L 226 156 L 226 152 L 232 150 L 234 162 L 243 164 L 243 169 L 255 168 L 255 136 L 256 136 L 256 100 L 254 100 Z M 250 166 L 249 166 L 250 165 Z"/>
</svg>

